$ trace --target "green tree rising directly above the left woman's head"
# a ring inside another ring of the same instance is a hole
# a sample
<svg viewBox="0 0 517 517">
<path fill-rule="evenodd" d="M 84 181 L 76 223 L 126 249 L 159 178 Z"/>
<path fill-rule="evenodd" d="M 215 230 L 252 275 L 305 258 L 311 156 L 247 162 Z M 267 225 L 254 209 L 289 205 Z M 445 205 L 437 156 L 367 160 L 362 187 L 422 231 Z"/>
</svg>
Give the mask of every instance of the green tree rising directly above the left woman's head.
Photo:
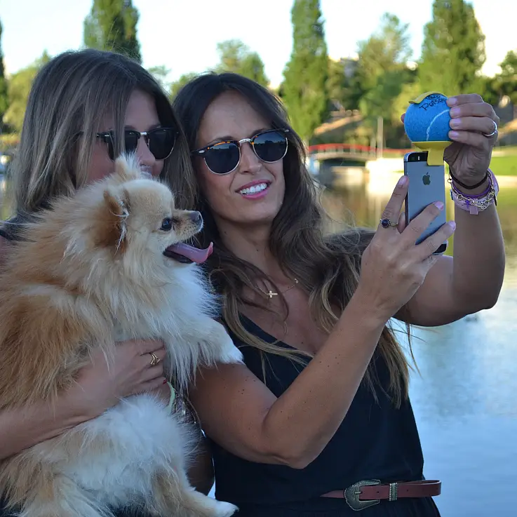
<svg viewBox="0 0 517 517">
<path fill-rule="evenodd" d="M 90 14 L 84 20 L 85 46 L 119 52 L 142 62 L 136 29 L 138 18 L 131 0 L 93 0 Z"/>
</svg>

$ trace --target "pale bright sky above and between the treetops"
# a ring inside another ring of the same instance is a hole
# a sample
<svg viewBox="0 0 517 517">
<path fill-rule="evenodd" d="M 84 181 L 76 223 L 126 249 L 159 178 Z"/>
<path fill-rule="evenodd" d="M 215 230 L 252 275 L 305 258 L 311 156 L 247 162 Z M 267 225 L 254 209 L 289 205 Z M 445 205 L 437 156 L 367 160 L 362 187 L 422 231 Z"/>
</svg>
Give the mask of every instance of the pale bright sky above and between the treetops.
<svg viewBox="0 0 517 517">
<path fill-rule="evenodd" d="M 83 20 L 91 4 L 91 0 L 0 0 L 7 72 L 30 65 L 44 50 L 56 55 L 80 48 Z M 486 36 L 483 72 L 493 75 L 506 52 L 517 48 L 516 0 L 473 0 L 471 4 Z M 241 39 L 259 53 L 271 86 L 281 82 L 293 46 L 293 0 L 133 0 L 133 5 L 140 12 L 137 33 L 143 65 L 164 65 L 170 70 L 170 81 L 215 65 L 219 41 Z M 328 54 L 335 59 L 354 56 L 358 41 L 375 32 L 382 14 L 389 11 L 409 24 L 416 60 L 431 6 L 432 0 L 321 0 Z M 352 15 L 354 8 L 357 13 Z"/>
</svg>

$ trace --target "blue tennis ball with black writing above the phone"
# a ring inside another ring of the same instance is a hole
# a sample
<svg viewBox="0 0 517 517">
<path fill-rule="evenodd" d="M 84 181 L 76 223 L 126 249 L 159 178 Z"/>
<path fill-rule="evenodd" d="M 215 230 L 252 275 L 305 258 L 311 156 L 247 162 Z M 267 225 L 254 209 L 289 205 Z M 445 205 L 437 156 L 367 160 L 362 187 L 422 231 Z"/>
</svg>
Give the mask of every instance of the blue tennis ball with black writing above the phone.
<svg viewBox="0 0 517 517">
<path fill-rule="evenodd" d="M 411 142 L 450 142 L 450 114 L 446 100 L 442 93 L 433 92 L 409 105 L 404 129 Z"/>
</svg>

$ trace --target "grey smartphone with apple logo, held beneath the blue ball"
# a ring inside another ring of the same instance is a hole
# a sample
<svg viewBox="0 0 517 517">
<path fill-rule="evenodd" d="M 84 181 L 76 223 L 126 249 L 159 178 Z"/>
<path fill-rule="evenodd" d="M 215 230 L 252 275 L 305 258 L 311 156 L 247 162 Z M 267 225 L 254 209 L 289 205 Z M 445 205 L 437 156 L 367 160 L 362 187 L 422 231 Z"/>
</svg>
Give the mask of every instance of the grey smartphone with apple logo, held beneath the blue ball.
<svg viewBox="0 0 517 517">
<path fill-rule="evenodd" d="M 405 196 L 405 224 L 409 224 L 419 213 L 435 201 L 445 206 L 445 166 L 427 165 L 427 152 L 410 152 L 404 156 L 404 175 L 409 178 L 408 194 Z M 445 208 L 431 221 L 431 224 L 419 236 L 419 244 L 447 222 Z M 441 255 L 447 249 L 447 241 L 434 252 Z"/>
</svg>

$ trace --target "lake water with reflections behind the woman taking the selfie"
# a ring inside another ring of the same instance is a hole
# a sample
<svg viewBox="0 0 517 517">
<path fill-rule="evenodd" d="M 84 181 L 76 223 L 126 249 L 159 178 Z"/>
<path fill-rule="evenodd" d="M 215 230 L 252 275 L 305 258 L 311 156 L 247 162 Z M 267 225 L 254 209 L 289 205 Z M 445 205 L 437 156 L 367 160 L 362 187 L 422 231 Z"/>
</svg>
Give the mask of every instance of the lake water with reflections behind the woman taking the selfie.
<svg viewBox="0 0 517 517">
<path fill-rule="evenodd" d="M 346 187 L 326 191 L 335 229 L 351 214 L 360 226 L 377 226 L 397 180 L 351 175 Z M 517 516 L 517 183 L 502 185 L 497 208 L 507 253 L 499 302 L 450 325 L 417 328 L 412 338 L 424 475 L 443 482 L 443 517 Z M 453 219 L 450 199 L 446 210 Z"/>
</svg>

